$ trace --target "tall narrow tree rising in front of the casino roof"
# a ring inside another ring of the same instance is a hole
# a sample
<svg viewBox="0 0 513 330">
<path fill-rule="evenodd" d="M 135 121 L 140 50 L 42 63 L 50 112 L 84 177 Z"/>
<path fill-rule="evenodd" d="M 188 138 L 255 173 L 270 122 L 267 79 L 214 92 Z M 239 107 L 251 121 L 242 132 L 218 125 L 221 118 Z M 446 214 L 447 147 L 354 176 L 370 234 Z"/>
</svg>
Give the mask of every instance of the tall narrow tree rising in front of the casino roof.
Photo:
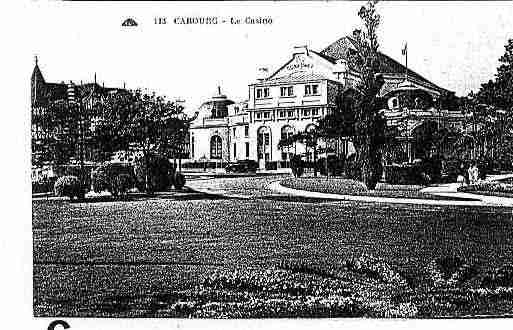
<svg viewBox="0 0 513 330">
<path fill-rule="evenodd" d="M 382 147 L 387 140 L 386 121 L 380 112 L 383 100 L 378 97 L 384 80 L 379 74 L 377 29 L 380 15 L 376 4 L 377 0 L 370 0 L 358 12 L 363 29 L 353 32 L 355 51 L 348 53 L 349 66 L 355 68 L 359 76 L 356 92 L 351 95 L 351 100 L 345 95 L 339 96 L 338 109 L 319 125 L 328 136 L 352 138 L 361 179 L 368 189 L 374 189 L 382 175 Z"/>
</svg>

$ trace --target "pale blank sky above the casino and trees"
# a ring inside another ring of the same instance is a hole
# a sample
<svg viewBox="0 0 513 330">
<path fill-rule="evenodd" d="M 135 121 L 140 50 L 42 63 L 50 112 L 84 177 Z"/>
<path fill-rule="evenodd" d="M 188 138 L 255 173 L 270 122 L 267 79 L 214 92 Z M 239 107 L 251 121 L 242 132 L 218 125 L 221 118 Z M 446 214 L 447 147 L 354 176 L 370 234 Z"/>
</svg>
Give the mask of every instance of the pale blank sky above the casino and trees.
<svg viewBox="0 0 513 330">
<path fill-rule="evenodd" d="M 148 88 L 183 99 L 188 110 L 221 86 L 235 101 L 247 98 L 257 70 L 273 71 L 294 46 L 322 50 L 360 25 L 362 2 L 69 3 L 29 6 L 31 60 L 50 82 L 97 81 L 109 87 Z M 466 95 L 492 79 L 508 38 L 511 2 L 381 2 L 381 51 L 434 83 Z M 176 17 L 271 18 L 268 25 L 180 25 Z M 133 17 L 139 25 L 121 27 Z M 166 17 L 157 25 L 155 17 Z"/>
</svg>

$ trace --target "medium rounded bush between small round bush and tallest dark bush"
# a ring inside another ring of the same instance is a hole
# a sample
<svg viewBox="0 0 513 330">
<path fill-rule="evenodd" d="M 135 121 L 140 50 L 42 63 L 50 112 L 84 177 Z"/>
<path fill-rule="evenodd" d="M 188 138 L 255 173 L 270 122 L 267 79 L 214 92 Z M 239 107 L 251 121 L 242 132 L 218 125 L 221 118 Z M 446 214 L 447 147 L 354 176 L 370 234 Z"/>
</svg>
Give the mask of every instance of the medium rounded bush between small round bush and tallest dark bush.
<svg viewBox="0 0 513 330">
<path fill-rule="evenodd" d="M 113 196 L 126 194 L 133 187 L 133 168 L 123 163 L 105 162 L 91 174 L 94 192 L 108 191 Z"/>
</svg>

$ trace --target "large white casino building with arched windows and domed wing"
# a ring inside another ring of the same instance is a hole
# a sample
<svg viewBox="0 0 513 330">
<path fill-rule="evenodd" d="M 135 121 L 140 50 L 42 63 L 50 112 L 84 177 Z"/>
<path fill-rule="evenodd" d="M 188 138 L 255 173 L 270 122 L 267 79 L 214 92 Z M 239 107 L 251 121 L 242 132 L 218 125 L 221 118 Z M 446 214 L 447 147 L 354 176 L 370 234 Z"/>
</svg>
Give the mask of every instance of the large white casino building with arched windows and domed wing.
<svg viewBox="0 0 513 330">
<path fill-rule="evenodd" d="M 200 107 L 191 125 L 191 161 L 218 162 L 221 167 L 252 159 L 263 169 L 285 167 L 295 153 L 308 155 L 300 143 L 282 150 L 278 142 L 288 134 L 315 128 L 318 119 L 335 108 L 336 96 L 353 90 L 358 76 L 346 61 L 354 50 L 352 43 L 350 37 L 343 37 L 321 52 L 306 46 L 295 48 L 291 59 L 276 72 L 249 85 L 245 102 L 229 100 L 219 88 Z M 441 123 L 459 128 L 462 116 L 442 109 L 440 96 L 453 92 L 384 54 L 380 57 L 385 79 L 381 96 L 388 100 L 385 115 L 390 125 L 401 125 L 404 149 L 411 159 L 420 152 L 414 145 L 417 132 L 425 135 L 426 127 Z M 345 142 L 341 150 L 348 153 L 351 149 Z"/>
</svg>

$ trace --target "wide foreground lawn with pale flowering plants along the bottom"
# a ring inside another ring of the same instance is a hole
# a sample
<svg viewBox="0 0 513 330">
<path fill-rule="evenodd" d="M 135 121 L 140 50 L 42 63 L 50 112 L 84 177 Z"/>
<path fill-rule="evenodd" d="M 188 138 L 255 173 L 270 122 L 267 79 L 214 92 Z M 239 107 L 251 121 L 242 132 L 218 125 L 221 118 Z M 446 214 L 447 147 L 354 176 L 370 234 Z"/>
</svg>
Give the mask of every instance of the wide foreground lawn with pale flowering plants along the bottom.
<svg viewBox="0 0 513 330">
<path fill-rule="evenodd" d="M 34 314 L 436 317 L 513 310 L 513 295 L 502 288 L 507 279 L 500 288 L 485 281 L 512 262 L 510 209 L 271 197 L 34 201 Z M 445 256 L 458 261 L 447 266 Z"/>
</svg>

